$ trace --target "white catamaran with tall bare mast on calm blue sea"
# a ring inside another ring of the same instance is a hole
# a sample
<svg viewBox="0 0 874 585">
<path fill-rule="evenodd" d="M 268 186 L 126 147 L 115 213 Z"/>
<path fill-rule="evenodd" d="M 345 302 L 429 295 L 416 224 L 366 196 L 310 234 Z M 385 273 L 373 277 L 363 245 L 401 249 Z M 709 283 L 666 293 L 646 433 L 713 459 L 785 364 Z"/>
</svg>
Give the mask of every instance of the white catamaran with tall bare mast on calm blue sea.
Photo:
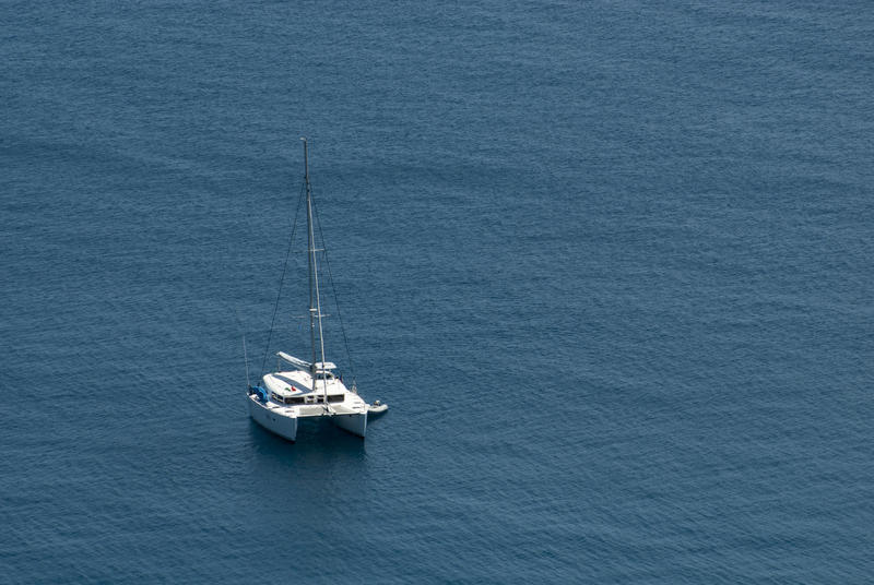
<svg viewBox="0 0 874 585">
<path fill-rule="evenodd" d="M 351 390 L 347 389 L 342 377 L 336 374 L 336 366 L 324 359 L 323 314 L 316 254 L 319 250 L 316 249 L 314 231 L 309 155 L 306 139 L 300 140 L 304 141 L 311 360 L 306 361 L 279 351 L 279 371 L 263 375 L 260 384 L 248 387 L 249 416 L 263 428 L 290 441 L 297 438 L 298 422 L 305 419 L 330 419 L 341 429 L 364 438 L 368 409 L 373 409 L 375 414 L 381 413 L 386 405 L 378 401 L 368 405 L 358 395 L 355 383 L 353 382 Z"/>
</svg>

